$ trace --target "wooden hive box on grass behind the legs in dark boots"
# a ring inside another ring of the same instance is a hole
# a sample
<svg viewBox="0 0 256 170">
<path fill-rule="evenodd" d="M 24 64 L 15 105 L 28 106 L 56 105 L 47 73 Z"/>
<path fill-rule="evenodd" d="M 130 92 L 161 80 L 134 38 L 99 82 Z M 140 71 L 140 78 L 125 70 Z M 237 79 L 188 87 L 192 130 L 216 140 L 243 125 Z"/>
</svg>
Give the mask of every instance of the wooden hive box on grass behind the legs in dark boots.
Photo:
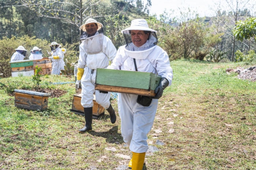
<svg viewBox="0 0 256 170">
<path fill-rule="evenodd" d="M 81 98 L 82 93 L 75 94 L 73 97 L 73 104 L 70 111 L 74 112 L 75 114 L 83 115 L 83 106 L 81 105 Z M 93 118 L 98 119 L 99 116 L 103 115 L 105 112 L 105 108 L 99 105 L 95 100 L 95 95 L 93 99 Z"/>
</svg>

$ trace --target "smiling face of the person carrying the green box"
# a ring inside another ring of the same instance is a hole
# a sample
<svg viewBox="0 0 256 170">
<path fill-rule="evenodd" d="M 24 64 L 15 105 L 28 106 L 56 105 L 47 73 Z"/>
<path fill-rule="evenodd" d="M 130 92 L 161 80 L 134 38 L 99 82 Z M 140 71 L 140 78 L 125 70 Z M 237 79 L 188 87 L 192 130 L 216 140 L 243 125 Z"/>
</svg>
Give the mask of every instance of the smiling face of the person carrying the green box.
<svg viewBox="0 0 256 170">
<path fill-rule="evenodd" d="M 149 33 L 144 33 L 142 30 L 131 30 L 132 43 L 136 47 L 140 47 L 146 43 Z"/>
</svg>

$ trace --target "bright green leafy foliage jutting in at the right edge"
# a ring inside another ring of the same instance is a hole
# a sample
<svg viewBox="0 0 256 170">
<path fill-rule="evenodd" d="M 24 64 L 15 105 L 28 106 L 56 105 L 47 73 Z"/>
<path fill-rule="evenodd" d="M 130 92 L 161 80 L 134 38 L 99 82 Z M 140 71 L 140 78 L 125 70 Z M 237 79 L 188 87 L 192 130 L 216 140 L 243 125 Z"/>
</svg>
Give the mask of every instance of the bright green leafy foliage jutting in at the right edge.
<svg viewBox="0 0 256 170">
<path fill-rule="evenodd" d="M 251 38 L 254 38 L 256 42 L 256 18 L 247 18 L 245 21 L 237 21 L 233 34 L 238 41 L 243 41 L 244 39 L 251 41 Z"/>
</svg>

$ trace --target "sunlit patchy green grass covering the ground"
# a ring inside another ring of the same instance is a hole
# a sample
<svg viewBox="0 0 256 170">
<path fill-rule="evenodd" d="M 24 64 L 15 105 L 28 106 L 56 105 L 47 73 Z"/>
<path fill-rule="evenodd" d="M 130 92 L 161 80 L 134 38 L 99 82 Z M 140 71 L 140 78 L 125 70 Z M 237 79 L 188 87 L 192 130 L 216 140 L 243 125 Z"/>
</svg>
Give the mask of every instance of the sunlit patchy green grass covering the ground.
<svg viewBox="0 0 256 170">
<path fill-rule="evenodd" d="M 255 66 L 251 63 L 251 66 Z M 256 82 L 226 74 L 245 63 L 171 62 L 172 86 L 159 99 L 144 170 L 256 169 Z M 60 84 L 54 84 L 59 82 Z M 41 88 L 64 90 L 48 99 L 48 110 L 14 106 L 15 88 L 33 88 L 29 77 L 0 79 L 0 169 L 101 169 L 128 165 L 131 157 L 106 112 L 93 120 L 93 131 L 79 134 L 84 118 L 70 112 L 74 76 L 44 76 Z M 117 112 L 117 101 L 111 100 Z M 118 112 L 117 112 L 118 113 Z M 161 130 L 161 131 L 159 131 Z M 170 133 L 174 130 L 173 133 Z M 165 145 L 156 145 L 159 140 Z M 106 148 L 114 147 L 117 151 Z"/>
</svg>

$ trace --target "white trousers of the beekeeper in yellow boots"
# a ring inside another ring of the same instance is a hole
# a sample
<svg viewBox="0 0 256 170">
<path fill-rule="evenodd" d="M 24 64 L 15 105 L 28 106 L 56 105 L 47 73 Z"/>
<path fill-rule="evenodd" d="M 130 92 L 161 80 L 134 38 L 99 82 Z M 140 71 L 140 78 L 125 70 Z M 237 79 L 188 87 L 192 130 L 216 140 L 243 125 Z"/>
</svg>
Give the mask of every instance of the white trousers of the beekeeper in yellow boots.
<svg viewBox="0 0 256 170">
<path fill-rule="evenodd" d="M 154 123 L 158 99 L 144 107 L 137 103 L 137 98 L 138 95 L 119 93 L 118 114 L 124 142 L 132 152 L 144 153 L 148 150 L 147 134 Z"/>
</svg>

